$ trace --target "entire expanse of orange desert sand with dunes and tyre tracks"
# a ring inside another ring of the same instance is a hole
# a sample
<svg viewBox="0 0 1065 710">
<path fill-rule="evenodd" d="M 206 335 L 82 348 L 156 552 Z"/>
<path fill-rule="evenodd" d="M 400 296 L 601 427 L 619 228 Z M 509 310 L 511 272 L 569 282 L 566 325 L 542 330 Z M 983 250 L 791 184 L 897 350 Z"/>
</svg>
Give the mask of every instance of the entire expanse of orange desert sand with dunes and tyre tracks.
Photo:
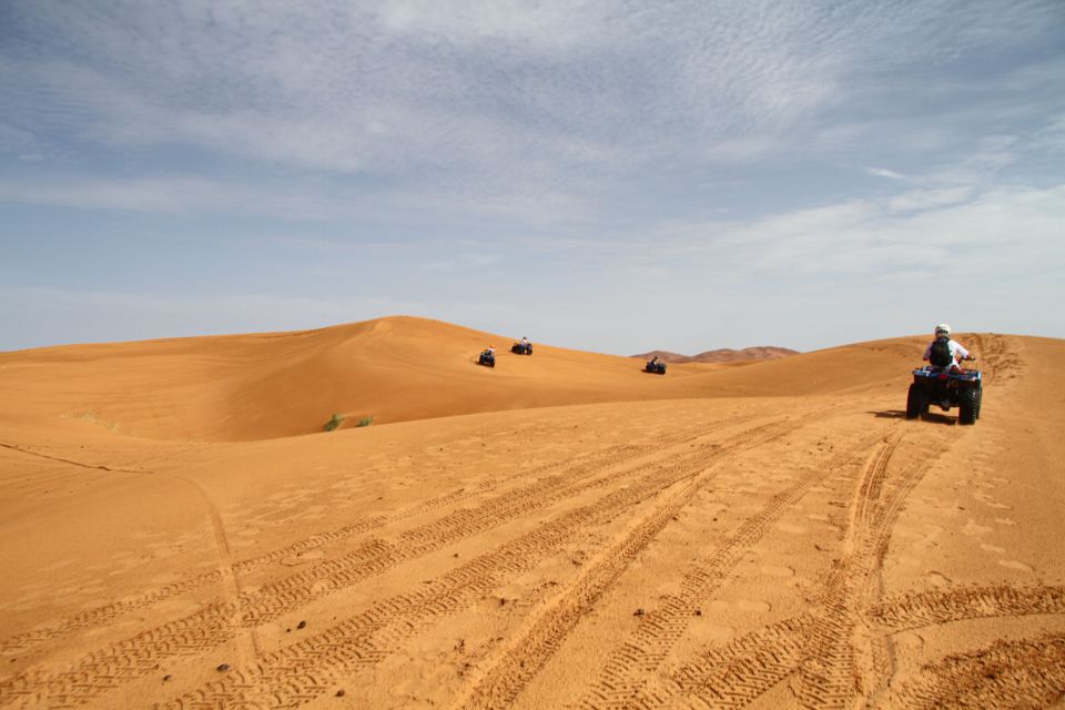
<svg viewBox="0 0 1065 710">
<path fill-rule="evenodd" d="M 961 426 L 903 417 L 926 339 L 2 353 L 0 708 L 1061 706 L 1065 342 L 958 335 Z"/>
</svg>

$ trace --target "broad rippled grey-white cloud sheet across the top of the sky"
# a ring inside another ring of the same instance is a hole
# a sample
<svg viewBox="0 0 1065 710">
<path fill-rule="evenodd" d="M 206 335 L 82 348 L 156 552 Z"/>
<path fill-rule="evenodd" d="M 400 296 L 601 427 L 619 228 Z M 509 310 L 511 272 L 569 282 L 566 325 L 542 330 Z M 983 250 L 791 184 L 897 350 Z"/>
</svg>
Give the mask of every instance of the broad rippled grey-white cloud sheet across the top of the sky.
<svg viewBox="0 0 1065 710">
<path fill-rule="evenodd" d="M 394 0 L 300 6 L 122 3 L 14 13 L 63 50 L 9 51 L 24 130 L 45 120 L 111 145 L 191 145 L 349 173 L 470 166 L 550 180 L 605 156 L 762 158 L 886 67 L 963 51 L 1032 8 L 852 3 Z M 1045 12 L 1043 12 L 1045 14 Z M 20 47 L 11 44 L 11 47 Z M 889 61 L 883 61 L 884 59 Z M 937 60 L 942 61 L 942 60 Z M 558 146 L 566 145 L 566 150 Z M 759 146 L 759 150 L 751 150 Z"/>
</svg>

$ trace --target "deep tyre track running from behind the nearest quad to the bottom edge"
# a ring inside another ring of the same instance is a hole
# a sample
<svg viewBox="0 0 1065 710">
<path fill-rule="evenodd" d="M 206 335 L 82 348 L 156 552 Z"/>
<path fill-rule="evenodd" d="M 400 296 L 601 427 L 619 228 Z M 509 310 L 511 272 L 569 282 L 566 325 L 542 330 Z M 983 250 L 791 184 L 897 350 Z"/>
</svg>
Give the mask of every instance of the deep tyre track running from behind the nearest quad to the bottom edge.
<svg viewBox="0 0 1065 710">
<path fill-rule="evenodd" d="M 864 683 L 876 688 L 890 674 L 885 636 L 866 629 L 873 584 L 902 505 L 932 459 L 911 462 L 890 475 L 904 432 L 874 446 L 858 479 L 848 514 L 842 556 L 833 561 L 819 609 L 772 625 L 718 649 L 710 647 L 671 673 L 651 678 L 622 707 L 743 707 L 800 671 L 802 707 L 841 707 Z M 801 629 L 801 633 L 797 631 Z"/>
</svg>

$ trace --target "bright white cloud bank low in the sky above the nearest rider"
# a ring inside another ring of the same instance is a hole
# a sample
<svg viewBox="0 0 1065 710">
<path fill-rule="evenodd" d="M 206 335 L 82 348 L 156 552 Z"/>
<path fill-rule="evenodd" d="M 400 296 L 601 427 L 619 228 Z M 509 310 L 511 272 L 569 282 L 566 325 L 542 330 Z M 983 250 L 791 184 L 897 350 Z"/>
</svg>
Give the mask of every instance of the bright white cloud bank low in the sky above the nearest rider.
<svg viewBox="0 0 1065 710">
<path fill-rule="evenodd" d="M 1065 268 L 1061 225 L 1065 184 L 1045 190 L 970 187 L 911 191 L 771 215 L 748 223 L 663 225 L 636 245 L 594 250 L 606 271 L 645 264 L 698 274 L 709 282 L 775 282 L 851 288 L 878 281 L 943 283 L 990 277 L 1023 286 L 1026 273 Z M 565 248 L 558 245 L 559 248 Z M 1063 293 L 1065 297 L 1065 293 Z"/>
</svg>

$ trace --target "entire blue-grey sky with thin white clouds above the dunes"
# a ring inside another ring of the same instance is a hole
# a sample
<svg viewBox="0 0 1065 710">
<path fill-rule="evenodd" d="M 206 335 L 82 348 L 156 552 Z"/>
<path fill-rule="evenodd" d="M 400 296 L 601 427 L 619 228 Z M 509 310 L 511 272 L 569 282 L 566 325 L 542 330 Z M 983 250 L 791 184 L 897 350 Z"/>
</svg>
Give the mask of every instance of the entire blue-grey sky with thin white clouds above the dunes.
<svg viewBox="0 0 1065 710">
<path fill-rule="evenodd" d="M 0 351 L 1065 337 L 1063 267 L 1061 0 L 0 0 Z"/>
</svg>

